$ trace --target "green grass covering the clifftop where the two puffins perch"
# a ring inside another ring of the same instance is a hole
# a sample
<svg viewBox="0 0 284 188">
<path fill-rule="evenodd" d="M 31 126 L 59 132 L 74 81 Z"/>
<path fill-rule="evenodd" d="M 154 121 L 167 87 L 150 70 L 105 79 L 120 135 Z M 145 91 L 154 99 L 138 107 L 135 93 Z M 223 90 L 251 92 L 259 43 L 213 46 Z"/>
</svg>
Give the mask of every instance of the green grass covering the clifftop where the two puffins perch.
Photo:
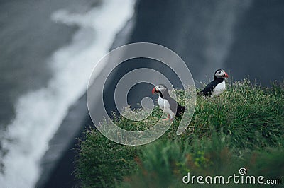
<svg viewBox="0 0 284 188">
<path fill-rule="evenodd" d="M 261 88 L 244 80 L 229 84 L 219 97 L 197 97 L 185 132 L 175 134 L 177 118 L 163 136 L 146 146 L 122 146 L 89 128 L 77 148 L 75 175 L 82 187 L 183 187 L 187 172 L 228 176 L 245 167 L 249 175 L 282 178 L 284 183 L 283 86 L 284 82 Z M 176 91 L 184 103 L 183 91 Z M 144 121 L 124 117 L 114 121 L 138 131 L 152 127 L 161 114 L 155 107 Z"/>
</svg>

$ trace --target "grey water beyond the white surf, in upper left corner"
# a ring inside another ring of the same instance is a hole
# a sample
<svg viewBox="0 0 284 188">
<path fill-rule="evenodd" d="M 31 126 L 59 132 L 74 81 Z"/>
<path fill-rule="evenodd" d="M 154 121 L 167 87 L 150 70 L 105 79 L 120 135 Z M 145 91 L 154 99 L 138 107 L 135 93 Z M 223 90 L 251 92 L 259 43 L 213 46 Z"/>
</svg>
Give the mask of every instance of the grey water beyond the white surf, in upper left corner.
<svg viewBox="0 0 284 188">
<path fill-rule="evenodd" d="M 44 87 L 52 76 L 47 58 L 70 40 L 75 28 L 54 23 L 50 14 L 69 3 L 0 1 L 1 127 L 13 117 L 19 95 Z"/>
</svg>

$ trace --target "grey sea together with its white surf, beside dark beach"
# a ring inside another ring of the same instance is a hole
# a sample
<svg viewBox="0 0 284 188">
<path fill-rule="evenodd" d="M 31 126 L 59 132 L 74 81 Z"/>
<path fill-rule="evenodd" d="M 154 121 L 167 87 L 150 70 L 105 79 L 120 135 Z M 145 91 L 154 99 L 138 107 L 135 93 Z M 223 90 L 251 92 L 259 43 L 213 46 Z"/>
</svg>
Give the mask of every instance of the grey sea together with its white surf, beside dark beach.
<svg viewBox="0 0 284 188">
<path fill-rule="evenodd" d="M 81 130 L 85 121 L 79 119 L 87 114 L 82 110 L 72 114 L 75 126 L 62 129 L 60 124 L 84 94 L 92 68 L 132 16 L 133 3 L 2 1 L 1 8 L 0 33 L 6 45 L 1 54 L 1 76 L 6 78 L 1 101 L 6 103 L 1 111 L 11 110 L 1 117 L 5 123 L 0 134 L 0 184 L 33 187 Z M 81 109 L 86 109 L 85 102 Z M 53 136 L 59 139 L 50 141 Z M 48 148 L 53 151 L 43 158 Z"/>
</svg>

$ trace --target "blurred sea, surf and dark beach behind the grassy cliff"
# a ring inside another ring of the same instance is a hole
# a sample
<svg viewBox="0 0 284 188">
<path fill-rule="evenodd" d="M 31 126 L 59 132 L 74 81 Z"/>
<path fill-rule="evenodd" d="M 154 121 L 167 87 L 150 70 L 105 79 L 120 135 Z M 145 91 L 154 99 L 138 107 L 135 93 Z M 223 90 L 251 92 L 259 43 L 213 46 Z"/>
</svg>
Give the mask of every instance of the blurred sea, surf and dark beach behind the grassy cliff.
<svg viewBox="0 0 284 188">
<path fill-rule="evenodd" d="M 261 86 L 283 80 L 281 0 L 1 0 L 0 10 L 4 187 L 77 184 L 71 149 L 92 124 L 87 82 L 109 49 L 131 42 L 164 45 L 185 61 L 197 86 L 219 68 Z M 119 67 L 108 87 L 141 66 L 170 74 L 151 61 L 135 61 Z M 148 95 L 144 87 L 135 88 L 141 97 Z M 136 93 L 129 102 L 136 104 Z M 115 110 L 111 100 L 109 108 Z"/>
</svg>

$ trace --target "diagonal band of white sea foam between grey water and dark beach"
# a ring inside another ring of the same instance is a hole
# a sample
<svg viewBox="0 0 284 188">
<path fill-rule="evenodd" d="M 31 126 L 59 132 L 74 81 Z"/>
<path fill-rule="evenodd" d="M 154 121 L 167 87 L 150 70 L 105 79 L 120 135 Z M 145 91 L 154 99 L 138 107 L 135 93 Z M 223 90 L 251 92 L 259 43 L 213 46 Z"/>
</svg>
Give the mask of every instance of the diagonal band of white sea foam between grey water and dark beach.
<svg viewBox="0 0 284 188">
<path fill-rule="evenodd" d="M 115 34 L 133 15 L 132 0 L 107 0 L 87 13 L 65 10 L 51 18 L 62 24 L 77 25 L 79 30 L 70 45 L 53 54 L 49 63 L 53 78 L 48 86 L 21 96 L 16 104 L 16 117 L 9 125 L 3 158 L 5 173 L 1 187 L 34 187 L 40 175 L 40 158 L 62 119 L 87 88 L 92 68 L 107 53 Z M 64 35 L 58 34 L 58 35 Z M 43 44 L 44 45 L 44 44 Z"/>
</svg>

